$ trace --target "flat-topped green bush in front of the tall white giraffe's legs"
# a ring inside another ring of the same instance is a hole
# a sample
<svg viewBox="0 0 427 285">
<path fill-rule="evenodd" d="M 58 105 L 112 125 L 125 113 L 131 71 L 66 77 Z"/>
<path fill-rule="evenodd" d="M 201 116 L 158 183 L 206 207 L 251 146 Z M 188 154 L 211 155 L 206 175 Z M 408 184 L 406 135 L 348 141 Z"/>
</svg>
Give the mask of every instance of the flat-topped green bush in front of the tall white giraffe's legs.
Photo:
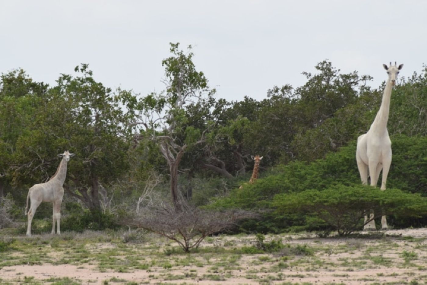
<svg viewBox="0 0 427 285">
<path fill-rule="evenodd" d="M 375 217 L 420 216 L 427 214 L 427 198 L 398 189 L 381 191 L 366 185 L 336 185 L 323 191 L 316 189 L 300 193 L 280 194 L 272 206 L 280 214 L 305 214 L 306 223 L 323 221 L 339 235 L 349 235 L 362 229 L 363 217 L 370 210 Z M 315 217 L 313 219 L 313 217 Z"/>
</svg>

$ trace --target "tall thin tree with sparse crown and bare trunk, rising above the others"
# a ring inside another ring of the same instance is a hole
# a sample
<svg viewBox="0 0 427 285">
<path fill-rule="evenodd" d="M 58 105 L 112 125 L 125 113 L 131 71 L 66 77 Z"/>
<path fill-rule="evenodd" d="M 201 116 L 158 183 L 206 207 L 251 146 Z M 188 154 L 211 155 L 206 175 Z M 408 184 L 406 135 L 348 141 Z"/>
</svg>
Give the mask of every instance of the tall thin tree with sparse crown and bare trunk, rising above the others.
<svg viewBox="0 0 427 285">
<path fill-rule="evenodd" d="M 210 122 L 205 122 L 204 129 L 189 126 L 186 108 L 208 104 L 215 89 L 210 89 L 205 75 L 196 71 L 191 46 L 184 53 L 179 43 L 171 43 L 170 52 L 172 56 L 162 61 L 166 89 L 142 98 L 136 108 L 140 111 L 137 124 L 142 126 L 139 138 L 156 142 L 169 167 L 172 202 L 179 209 L 179 165 L 187 150 L 206 141 L 205 134 L 212 126 Z"/>
</svg>

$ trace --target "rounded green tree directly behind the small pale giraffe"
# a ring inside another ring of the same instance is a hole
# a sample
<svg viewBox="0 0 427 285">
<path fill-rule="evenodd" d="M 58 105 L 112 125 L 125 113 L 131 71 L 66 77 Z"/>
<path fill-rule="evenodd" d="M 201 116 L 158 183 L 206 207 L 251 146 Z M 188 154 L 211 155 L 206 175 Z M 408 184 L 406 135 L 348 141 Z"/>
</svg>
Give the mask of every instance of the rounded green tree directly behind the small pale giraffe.
<svg viewBox="0 0 427 285">
<path fill-rule="evenodd" d="M 92 77 L 88 65 L 75 68 L 80 76 L 62 75 L 50 92 L 45 111 L 46 132 L 68 145 L 76 156 L 70 162 L 66 191 L 92 213 L 100 212 L 102 185 L 109 185 L 129 169 L 129 140 L 134 117 L 123 110 L 135 102 L 129 91 L 112 92 Z"/>
</svg>

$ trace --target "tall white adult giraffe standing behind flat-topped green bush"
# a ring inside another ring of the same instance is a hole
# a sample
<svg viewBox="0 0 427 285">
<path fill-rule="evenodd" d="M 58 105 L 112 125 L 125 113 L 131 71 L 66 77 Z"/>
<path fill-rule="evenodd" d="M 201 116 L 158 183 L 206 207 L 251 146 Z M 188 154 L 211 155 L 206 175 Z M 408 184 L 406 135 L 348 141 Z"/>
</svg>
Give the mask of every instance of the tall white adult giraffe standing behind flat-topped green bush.
<svg viewBox="0 0 427 285">
<path fill-rule="evenodd" d="M 377 186 L 380 171 L 383 170 L 383 178 L 381 182 L 381 190 L 386 190 L 387 175 L 389 174 L 390 165 L 392 163 L 392 142 L 390 141 L 389 132 L 387 131 L 387 121 L 389 120 L 390 97 L 392 88 L 396 83 L 396 78 L 403 64 L 397 66 L 383 65 L 386 69 L 389 78 L 384 88 L 383 100 L 380 109 L 375 116 L 374 122 L 371 124 L 369 131 L 357 138 L 356 160 L 359 168 L 360 179 L 362 184 L 368 184 L 368 171 L 371 177 L 371 186 Z M 373 220 L 374 213 L 370 214 L 371 220 L 364 226 L 364 230 L 375 230 L 375 221 Z M 365 216 L 365 222 L 368 219 Z M 381 218 L 382 229 L 387 229 L 386 216 Z"/>
</svg>

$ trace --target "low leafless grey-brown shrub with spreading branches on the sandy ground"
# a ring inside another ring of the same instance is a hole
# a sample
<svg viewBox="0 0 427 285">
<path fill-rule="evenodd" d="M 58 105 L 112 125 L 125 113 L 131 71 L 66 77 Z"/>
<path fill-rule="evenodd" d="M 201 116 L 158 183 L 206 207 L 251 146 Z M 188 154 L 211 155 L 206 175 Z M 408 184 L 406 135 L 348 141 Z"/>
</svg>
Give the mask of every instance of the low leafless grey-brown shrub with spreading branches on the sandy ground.
<svg viewBox="0 0 427 285">
<path fill-rule="evenodd" d="M 254 218 L 257 214 L 246 210 L 210 211 L 194 206 L 164 204 L 141 209 L 129 225 L 163 235 L 189 252 L 199 247 L 208 235 L 223 232 L 235 226 L 239 220 Z"/>
</svg>

